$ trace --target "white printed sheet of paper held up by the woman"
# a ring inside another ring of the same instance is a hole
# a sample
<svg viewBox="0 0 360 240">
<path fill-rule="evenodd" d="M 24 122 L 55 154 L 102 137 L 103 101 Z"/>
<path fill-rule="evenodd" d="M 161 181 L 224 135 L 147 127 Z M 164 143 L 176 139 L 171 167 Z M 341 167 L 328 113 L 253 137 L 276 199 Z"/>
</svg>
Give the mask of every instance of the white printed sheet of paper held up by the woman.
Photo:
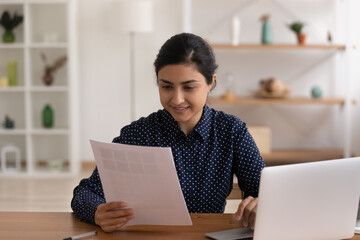
<svg viewBox="0 0 360 240">
<path fill-rule="evenodd" d="M 132 225 L 192 225 L 171 148 L 90 140 L 106 202 L 133 208 Z"/>
</svg>

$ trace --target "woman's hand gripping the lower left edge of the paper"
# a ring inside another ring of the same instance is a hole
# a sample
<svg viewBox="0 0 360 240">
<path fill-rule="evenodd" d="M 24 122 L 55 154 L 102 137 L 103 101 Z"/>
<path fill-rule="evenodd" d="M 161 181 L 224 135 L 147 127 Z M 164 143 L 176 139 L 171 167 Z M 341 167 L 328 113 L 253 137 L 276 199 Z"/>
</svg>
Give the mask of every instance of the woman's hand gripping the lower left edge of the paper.
<svg viewBox="0 0 360 240">
<path fill-rule="evenodd" d="M 100 204 L 95 212 L 95 223 L 104 232 L 120 230 L 128 221 L 135 218 L 135 212 L 127 207 L 126 202 L 109 202 Z"/>
</svg>

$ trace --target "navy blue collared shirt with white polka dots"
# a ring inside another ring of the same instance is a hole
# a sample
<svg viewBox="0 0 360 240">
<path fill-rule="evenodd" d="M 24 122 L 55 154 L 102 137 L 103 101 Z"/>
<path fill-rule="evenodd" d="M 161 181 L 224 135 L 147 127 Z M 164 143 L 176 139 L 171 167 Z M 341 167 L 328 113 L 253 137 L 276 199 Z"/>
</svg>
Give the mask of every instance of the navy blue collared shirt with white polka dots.
<svg viewBox="0 0 360 240">
<path fill-rule="evenodd" d="M 190 213 L 224 212 L 234 174 L 245 197 L 258 195 L 265 164 L 246 124 L 207 105 L 187 136 L 169 112 L 159 110 L 122 128 L 113 142 L 171 147 Z M 104 193 L 95 169 L 74 189 L 71 207 L 80 220 L 94 223 L 96 208 L 102 203 Z"/>
</svg>

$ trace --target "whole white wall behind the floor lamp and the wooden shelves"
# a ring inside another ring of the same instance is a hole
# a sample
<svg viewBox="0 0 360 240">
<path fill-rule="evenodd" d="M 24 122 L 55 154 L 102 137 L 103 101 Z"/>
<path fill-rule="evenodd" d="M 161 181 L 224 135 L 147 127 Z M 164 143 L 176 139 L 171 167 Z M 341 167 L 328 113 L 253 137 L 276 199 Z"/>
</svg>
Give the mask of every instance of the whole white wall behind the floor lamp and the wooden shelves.
<svg viewBox="0 0 360 240">
<path fill-rule="evenodd" d="M 129 108 L 129 37 L 124 33 L 118 32 L 114 26 L 116 23 L 110 22 L 107 16 L 112 0 L 79 0 L 79 66 L 80 66 L 80 119 L 81 119 L 81 152 L 82 160 L 93 159 L 89 138 L 103 141 L 111 141 L 113 137 L 119 134 L 121 127 L 130 123 Z M 359 2 L 349 0 L 352 4 L 352 29 L 350 37 L 351 43 L 360 42 L 357 23 L 360 17 L 357 16 L 357 10 L 360 9 Z M 210 40 L 229 41 L 229 22 L 226 17 L 231 16 L 236 6 L 247 4 L 250 1 L 236 0 L 193 0 L 193 31 Z M 307 6 L 301 8 L 304 1 L 282 0 L 279 2 L 288 3 L 290 12 L 279 10 L 267 2 L 257 1 L 256 8 L 244 11 L 242 19 L 242 41 L 256 42 L 260 34 L 259 14 L 262 11 L 273 14 L 274 26 L 282 26 L 274 30 L 274 41 L 293 42 L 294 36 L 284 27 L 286 22 L 298 17 L 305 19 L 309 23 L 309 42 L 324 41 L 326 30 L 323 26 L 329 25 L 329 17 L 326 15 L 328 8 L 334 8 L 333 0 L 306 0 Z M 328 4 L 329 3 L 329 4 Z M 331 4 L 330 4 L 331 3 Z M 149 34 L 138 34 L 136 36 L 136 116 L 147 116 L 149 113 L 160 108 L 158 93 L 155 84 L 155 73 L 153 70 L 153 61 L 160 46 L 170 36 L 178 33 L 182 29 L 182 1 L 181 0 L 154 0 L 155 4 L 155 25 L 154 32 Z M 262 7 L 262 9 L 261 9 Z M 220 10 L 219 10 L 220 9 Z M 301 11 L 300 11 L 301 10 Z M 314 14 L 317 12 L 317 14 Z M 325 18 L 325 20 L 324 20 Z M 225 19 L 225 20 L 223 20 Z M 217 24 L 219 22 L 219 24 Z M 112 27 L 109 27 L 112 26 Z M 335 36 L 335 39 L 341 40 L 341 36 Z M 355 68 L 359 61 L 359 50 L 352 53 L 352 69 L 354 78 L 353 93 L 360 103 L 360 74 Z M 313 70 L 297 76 L 298 67 L 302 66 L 309 58 L 321 59 L 323 52 L 311 52 L 307 55 L 294 57 L 293 52 L 282 52 L 268 54 L 244 52 L 239 58 L 236 53 L 216 53 L 220 64 L 218 75 L 219 84 L 214 94 L 219 95 L 224 90 L 224 79 L 228 73 L 235 74 L 238 77 L 236 91 L 239 94 L 249 94 L 257 87 L 257 81 L 262 77 L 278 76 L 287 79 L 293 77 L 293 91 L 296 94 L 308 94 L 309 88 L 313 85 L 314 76 L 319 79 L 319 84 L 327 91 L 325 94 L 333 92 L 343 92 L 341 83 L 336 83 L 337 89 L 328 85 L 335 81 L 333 75 L 334 66 L 336 66 L 338 57 L 335 54 L 328 60 L 322 62 Z M 242 60 L 241 60 L 242 59 Z M 260 59 L 260 60 L 259 60 Z M 289 63 L 289 59 L 291 62 Z M 246 62 L 243 65 L 241 61 Z M 310 66 L 313 62 L 310 61 Z M 310 67 L 309 66 L 309 67 Z M 236 69 L 236 70 L 234 70 Z M 245 76 L 245 77 L 244 77 Z M 295 77 L 294 77 L 295 76 Z M 251 81 L 249 81 L 251 80 Z M 310 109 L 302 106 L 298 107 L 259 107 L 256 109 L 225 109 L 238 115 L 249 123 L 263 124 L 264 117 L 266 121 L 271 120 L 272 128 L 276 134 L 273 139 L 275 146 L 300 145 L 303 147 L 333 147 L 342 144 L 343 126 L 341 117 L 333 118 L 338 114 L 337 107 L 325 109 L 323 107 L 312 107 Z M 275 112 L 275 114 L 274 114 Z M 301 112 L 301 114 L 298 114 Z M 328 121 L 331 118 L 333 120 Z M 360 124 L 355 119 L 360 118 L 359 107 L 355 108 L 353 117 L 353 148 L 357 155 L 360 155 Z M 320 125 L 308 125 L 314 122 L 321 122 Z M 315 132 L 315 134 L 314 134 Z M 339 135 L 340 138 L 334 136 Z"/>
</svg>

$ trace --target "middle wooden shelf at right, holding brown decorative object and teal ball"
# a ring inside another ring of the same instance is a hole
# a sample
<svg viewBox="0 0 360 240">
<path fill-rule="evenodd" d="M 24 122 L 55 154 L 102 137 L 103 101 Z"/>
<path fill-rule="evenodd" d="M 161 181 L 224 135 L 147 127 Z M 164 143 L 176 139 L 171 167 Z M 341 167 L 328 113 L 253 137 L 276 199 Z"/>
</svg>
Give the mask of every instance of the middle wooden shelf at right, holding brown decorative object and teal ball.
<svg viewBox="0 0 360 240">
<path fill-rule="evenodd" d="M 209 98 L 209 104 L 221 105 L 344 105 L 344 98 L 321 98 L 313 99 L 306 97 L 292 97 L 292 98 L 237 98 L 233 101 L 225 100 L 222 98 Z M 352 100 L 352 104 L 356 101 Z"/>
</svg>

